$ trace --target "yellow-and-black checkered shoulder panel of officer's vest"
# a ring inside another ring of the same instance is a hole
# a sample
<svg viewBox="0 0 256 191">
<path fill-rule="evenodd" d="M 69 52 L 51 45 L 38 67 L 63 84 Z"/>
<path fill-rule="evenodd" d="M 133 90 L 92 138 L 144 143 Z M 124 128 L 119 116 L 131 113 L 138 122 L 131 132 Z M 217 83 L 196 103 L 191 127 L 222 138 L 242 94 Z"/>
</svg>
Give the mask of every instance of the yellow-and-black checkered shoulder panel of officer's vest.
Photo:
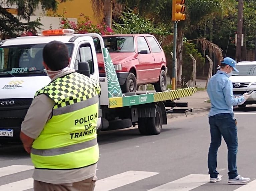
<svg viewBox="0 0 256 191">
<path fill-rule="evenodd" d="M 98 81 L 74 72 L 57 78 L 38 90 L 35 97 L 46 94 L 55 102 L 54 108 L 60 108 L 98 96 L 100 91 Z"/>
</svg>

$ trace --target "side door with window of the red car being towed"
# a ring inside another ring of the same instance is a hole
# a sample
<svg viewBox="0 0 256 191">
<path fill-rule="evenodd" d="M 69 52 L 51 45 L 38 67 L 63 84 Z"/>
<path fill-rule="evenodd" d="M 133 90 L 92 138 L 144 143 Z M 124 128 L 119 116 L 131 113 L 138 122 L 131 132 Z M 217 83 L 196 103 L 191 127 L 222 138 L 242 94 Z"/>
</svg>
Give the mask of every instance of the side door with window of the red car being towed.
<svg viewBox="0 0 256 191">
<path fill-rule="evenodd" d="M 139 65 L 137 67 L 137 81 L 139 83 L 147 83 L 152 81 L 152 78 L 156 78 L 155 72 L 155 60 L 153 54 L 150 52 L 146 39 L 142 37 L 136 37 L 136 45 L 138 52 Z M 140 54 L 141 50 L 147 50 L 147 54 Z M 157 75 L 158 76 L 158 75 Z"/>
</svg>

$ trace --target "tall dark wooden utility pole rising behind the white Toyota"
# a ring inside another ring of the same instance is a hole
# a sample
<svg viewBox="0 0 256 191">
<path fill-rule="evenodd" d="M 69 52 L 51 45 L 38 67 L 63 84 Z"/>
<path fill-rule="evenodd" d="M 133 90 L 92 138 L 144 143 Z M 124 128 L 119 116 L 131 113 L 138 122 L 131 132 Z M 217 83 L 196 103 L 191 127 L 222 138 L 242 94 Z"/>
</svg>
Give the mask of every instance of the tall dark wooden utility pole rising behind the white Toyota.
<svg viewBox="0 0 256 191">
<path fill-rule="evenodd" d="M 243 32 L 243 0 L 238 0 L 238 20 L 236 39 L 236 61 L 241 61 L 242 54 L 242 32 Z"/>
</svg>

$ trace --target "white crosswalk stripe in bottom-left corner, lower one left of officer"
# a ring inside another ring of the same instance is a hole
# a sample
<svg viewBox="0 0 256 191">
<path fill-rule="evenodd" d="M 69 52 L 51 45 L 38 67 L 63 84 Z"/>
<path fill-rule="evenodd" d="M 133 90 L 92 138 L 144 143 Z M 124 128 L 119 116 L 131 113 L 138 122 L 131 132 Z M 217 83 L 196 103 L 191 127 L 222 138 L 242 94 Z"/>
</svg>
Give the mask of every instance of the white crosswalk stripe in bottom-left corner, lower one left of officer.
<svg viewBox="0 0 256 191">
<path fill-rule="evenodd" d="M 33 178 L 20 180 L 17 182 L 11 182 L 0 186 L 1 191 L 24 191 L 33 188 Z"/>
</svg>

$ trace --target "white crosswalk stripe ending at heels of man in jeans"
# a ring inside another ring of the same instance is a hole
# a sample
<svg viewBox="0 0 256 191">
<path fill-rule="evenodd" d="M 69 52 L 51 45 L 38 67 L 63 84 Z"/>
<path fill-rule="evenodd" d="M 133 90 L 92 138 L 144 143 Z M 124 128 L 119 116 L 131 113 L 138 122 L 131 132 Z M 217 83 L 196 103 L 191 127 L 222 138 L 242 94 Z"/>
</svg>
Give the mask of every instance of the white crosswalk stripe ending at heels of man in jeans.
<svg viewBox="0 0 256 191">
<path fill-rule="evenodd" d="M 190 174 L 148 191 L 189 191 L 209 182 L 209 175 Z"/>
</svg>

